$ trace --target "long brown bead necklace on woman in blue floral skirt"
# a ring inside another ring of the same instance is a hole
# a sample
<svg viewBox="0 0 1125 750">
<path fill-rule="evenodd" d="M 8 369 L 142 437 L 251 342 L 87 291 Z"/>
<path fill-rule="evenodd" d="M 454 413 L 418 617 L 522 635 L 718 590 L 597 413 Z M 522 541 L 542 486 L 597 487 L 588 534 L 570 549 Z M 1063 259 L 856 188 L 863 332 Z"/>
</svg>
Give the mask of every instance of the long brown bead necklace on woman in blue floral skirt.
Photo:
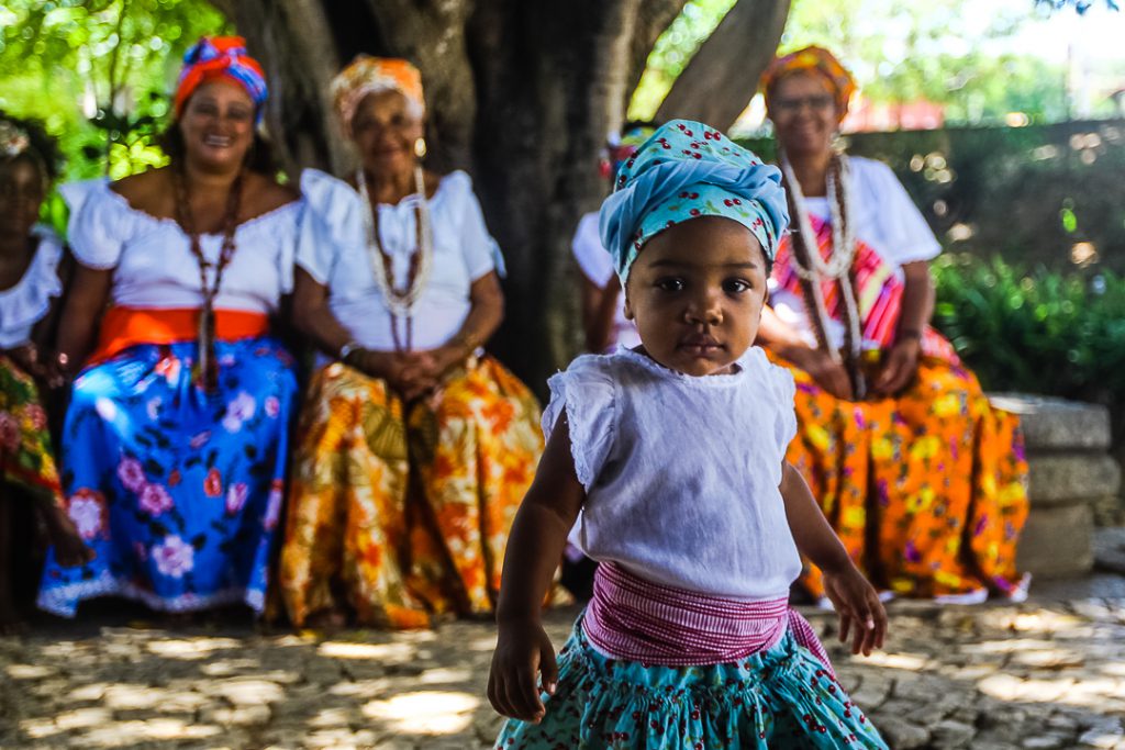
<svg viewBox="0 0 1125 750">
<path fill-rule="evenodd" d="M 187 177 L 180 169 L 172 171 L 172 181 L 176 186 L 176 220 L 187 233 L 191 254 L 196 256 L 196 262 L 199 264 L 199 288 L 204 296 L 204 304 L 199 308 L 197 344 L 199 353 L 196 367 L 192 368 L 192 379 L 205 390 L 215 390 L 218 387 L 218 361 L 215 358 L 215 298 L 218 297 L 218 289 L 223 283 L 223 272 L 231 264 L 231 259 L 234 257 L 234 233 L 238 228 L 243 174 L 244 172 L 238 172 L 238 177 L 234 179 L 231 192 L 227 195 L 226 213 L 223 215 L 223 245 L 219 249 L 218 261 L 212 263 L 204 255 L 204 249 L 199 241 L 200 235 L 191 214 Z M 209 283 L 207 280 L 207 270 L 210 268 L 215 269 L 214 283 Z"/>
</svg>

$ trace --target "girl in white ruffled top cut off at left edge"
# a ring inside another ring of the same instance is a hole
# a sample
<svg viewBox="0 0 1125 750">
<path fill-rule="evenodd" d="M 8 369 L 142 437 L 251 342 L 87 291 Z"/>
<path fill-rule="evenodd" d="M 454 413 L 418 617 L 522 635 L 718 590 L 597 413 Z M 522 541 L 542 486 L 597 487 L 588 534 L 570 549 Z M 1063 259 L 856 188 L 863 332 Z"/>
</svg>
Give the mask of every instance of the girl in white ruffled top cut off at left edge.
<svg viewBox="0 0 1125 750">
<path fill-rule="evenodd" d="M 36 123 L 0 112 L 0 633 L 17 629 L 14 507 L 30 498 L 68 563 L 87 552 L 66 515 L 39 385 L 62 385 L 50 336 L 62 293 L 62 242 L 37 224 L 55 144 Z"/>
</svg>

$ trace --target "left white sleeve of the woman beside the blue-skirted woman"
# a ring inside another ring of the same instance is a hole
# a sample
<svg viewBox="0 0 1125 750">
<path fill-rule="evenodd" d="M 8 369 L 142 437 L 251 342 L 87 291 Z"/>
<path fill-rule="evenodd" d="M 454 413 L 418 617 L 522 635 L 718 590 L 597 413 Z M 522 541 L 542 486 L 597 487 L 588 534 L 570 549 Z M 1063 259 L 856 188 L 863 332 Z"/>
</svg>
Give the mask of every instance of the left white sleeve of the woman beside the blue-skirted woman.
<svg viewBox="0 0 1125 750">
<path fill-rule="evenodd" d="M 348 238 L 363 236 L 362 205 L 343 180 L 320 170 L 300 175 L 305 198 L 297 231 L 297 265 L 318 283 L 327 284 L 341 246 Z"/>
</svg>

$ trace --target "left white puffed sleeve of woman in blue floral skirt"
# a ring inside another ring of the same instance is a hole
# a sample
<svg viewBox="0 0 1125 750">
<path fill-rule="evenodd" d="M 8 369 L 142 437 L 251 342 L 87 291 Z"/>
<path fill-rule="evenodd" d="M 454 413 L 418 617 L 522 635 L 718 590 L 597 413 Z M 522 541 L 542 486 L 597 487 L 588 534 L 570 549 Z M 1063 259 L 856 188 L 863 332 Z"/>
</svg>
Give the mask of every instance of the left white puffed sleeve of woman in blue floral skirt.
<svg viewBox="0 0 1125 750">
<path fill-rule="evenodd" d="M 106 179 L 71 182 L 58 192 L 70 208 L 66 242 L 78 262 L 97 270 L 116 266 L 125 242 L 136 232 L 137 213 L 109 189 Z"/>
</svg>

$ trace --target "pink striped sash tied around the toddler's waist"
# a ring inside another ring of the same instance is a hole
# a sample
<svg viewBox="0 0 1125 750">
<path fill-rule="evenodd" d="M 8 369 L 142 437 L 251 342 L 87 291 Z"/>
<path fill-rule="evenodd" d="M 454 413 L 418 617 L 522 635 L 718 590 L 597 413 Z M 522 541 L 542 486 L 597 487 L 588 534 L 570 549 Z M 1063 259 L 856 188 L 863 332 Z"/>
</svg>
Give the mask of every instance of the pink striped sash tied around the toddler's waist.
<svg viewBox="0 0 1125 750">
<path fill-rule="evenodd" d="M 831 671 L 828 654 L 788 598 L 738 602 L 662 586 L 603 562 L 583 620 L 590 642 L 613 659 L 668 667 L 737 661 L 790 630 Z"/>
</svg>

